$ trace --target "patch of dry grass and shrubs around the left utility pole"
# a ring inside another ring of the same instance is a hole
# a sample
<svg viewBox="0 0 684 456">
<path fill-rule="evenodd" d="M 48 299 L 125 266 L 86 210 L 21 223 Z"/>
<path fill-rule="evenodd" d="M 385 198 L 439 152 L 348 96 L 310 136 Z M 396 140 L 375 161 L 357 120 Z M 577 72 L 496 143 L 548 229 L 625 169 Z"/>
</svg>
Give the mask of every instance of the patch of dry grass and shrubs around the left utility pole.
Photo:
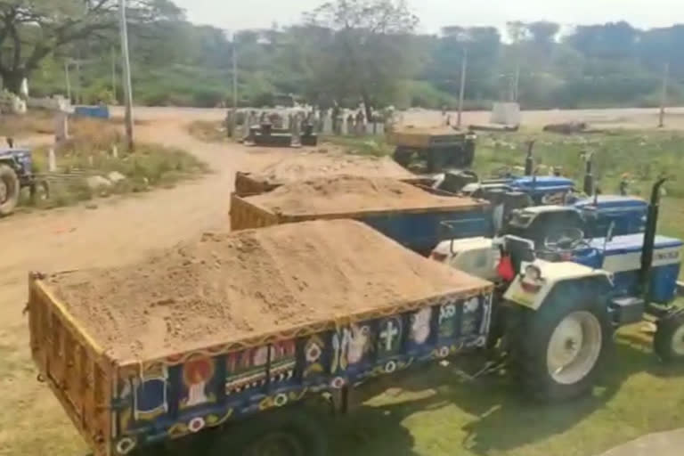
<svg viewBox="0 0 684 456">
<path fill-rule="evenodd" d="M 35 198 L 28 189 L 20 195 L 17 210 L 60 208 L 78 202 L 126 193 L 171 187 L 175 183 L 208 172 L 208 167 L 190 153 L 159 144 L 137 143 L 126 152 L 118 120 L 69 119 L 69 140 L 53 148 L 57 170 L 49 172 L 49 150 L 33 149 L 33 171 L 47 182 Z M 0 134 L 53 134 L 53 114 L 32 111 L 26 116 L 3 116 Z M 18 144 L 19 145 L 19 144 Z M 116 151 L 116 152 L 115 152 Z"/>
</svg>

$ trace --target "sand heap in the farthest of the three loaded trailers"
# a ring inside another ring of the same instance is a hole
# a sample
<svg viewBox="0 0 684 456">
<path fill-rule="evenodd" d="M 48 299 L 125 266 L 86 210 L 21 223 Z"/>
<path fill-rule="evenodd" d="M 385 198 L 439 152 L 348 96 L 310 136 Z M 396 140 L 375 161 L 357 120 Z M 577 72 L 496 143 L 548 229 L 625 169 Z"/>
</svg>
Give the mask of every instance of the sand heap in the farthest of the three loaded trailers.
<svg viewBox="0 0 684 456">
<path fill-rule="evenodd" d="M 344 153 L 304 152 L 289 155 L 250 173 L 264 183 L 288 183 L 325 175 L 385 176 L 397 179 L 412 177 L 394 160 L 360 157 Z"/>
</svg>

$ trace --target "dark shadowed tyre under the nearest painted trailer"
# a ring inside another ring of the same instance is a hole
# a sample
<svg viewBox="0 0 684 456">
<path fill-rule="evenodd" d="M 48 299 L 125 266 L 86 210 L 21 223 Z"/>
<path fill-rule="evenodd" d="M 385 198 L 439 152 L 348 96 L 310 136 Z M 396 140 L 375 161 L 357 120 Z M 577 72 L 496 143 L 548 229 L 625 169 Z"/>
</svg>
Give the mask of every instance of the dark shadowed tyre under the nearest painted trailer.
<svg viewBox="0 0 684 456">
<path fill-rule="evenodd" d="M 208 454 L 325 456 L 327 447 L 327 436 L 319 422 L 303 409 L 288 407 L 225 428 Z"/>
</svg>

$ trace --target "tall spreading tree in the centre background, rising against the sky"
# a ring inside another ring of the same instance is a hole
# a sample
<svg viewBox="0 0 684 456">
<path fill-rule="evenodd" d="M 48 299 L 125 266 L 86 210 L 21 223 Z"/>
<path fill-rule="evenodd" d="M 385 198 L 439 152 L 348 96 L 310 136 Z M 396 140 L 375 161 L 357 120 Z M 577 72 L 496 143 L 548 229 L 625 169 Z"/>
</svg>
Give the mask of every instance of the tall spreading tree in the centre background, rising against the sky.
<svg viewBox="0 0 684 456">
<path fill-rule="evenodd" d="M 336 0 L 306 15 L 308 25 L 332 31 L 319 67 L 318 83 L 338 95 L 359 96 L 371 107 L 390 98 L 399 81 L 415 69 L 411 34 L 418 18 L 404 0 Z"/>
</svg>

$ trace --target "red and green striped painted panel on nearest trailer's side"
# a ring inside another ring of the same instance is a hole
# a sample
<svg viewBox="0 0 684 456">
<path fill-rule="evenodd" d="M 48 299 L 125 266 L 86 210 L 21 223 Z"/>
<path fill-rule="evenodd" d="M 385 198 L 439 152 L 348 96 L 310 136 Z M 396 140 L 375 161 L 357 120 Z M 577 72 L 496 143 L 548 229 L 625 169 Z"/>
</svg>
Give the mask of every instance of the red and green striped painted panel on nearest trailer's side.
<svg viewBox="0 0 684 456">
<path fill-rule="evenodd" d="M 286 340 L 269 346 L 257 346 L 228 354 L 226 360 L 226 395 L 262 387 L 266 384 L 266 363 L 271 357 L 271 381 L 292 379 L 295 372 L 295 341 Z"/>
</svg>

